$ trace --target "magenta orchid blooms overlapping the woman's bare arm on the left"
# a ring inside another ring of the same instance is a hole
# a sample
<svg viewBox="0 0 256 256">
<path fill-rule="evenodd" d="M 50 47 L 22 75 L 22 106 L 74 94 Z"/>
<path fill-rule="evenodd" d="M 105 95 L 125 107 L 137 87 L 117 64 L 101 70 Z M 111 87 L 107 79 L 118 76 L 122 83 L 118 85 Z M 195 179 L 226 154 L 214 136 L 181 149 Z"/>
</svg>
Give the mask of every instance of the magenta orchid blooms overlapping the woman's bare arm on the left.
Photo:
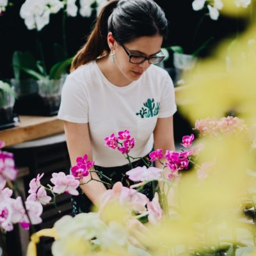
<svg viewBox="0 0 256 256">
<path fill-rule="evenodd" d="M 94 161 L 89 161 L 87 158 L 86 154 L 84 157 L 77 157 L 77 164 L 71 168 L 71 173 L 77 180 L 82 180 L 83 177 L 88 176 L 90 168 L 94 165 Z"/>
</svg>

